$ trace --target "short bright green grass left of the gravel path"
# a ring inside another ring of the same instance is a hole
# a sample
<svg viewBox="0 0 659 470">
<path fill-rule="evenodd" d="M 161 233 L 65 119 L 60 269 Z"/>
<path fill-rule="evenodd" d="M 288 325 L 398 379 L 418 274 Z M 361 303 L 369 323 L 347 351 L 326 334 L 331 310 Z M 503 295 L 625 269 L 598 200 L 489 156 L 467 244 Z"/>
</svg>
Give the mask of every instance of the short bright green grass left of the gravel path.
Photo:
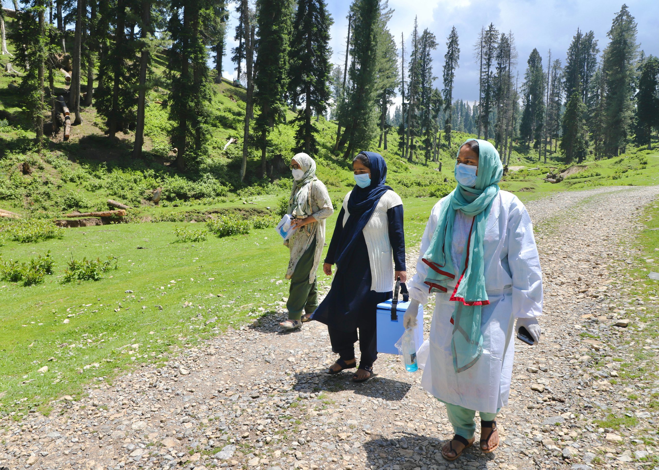
<svg viewBox="0 0 659 470">
<path fill-rule="evenodd" d="M 404 202 L 411 247 L 420 241 L 436 201 Z M 328 221 L 328 237 L 337 215 Z M 173 344 L 237 328 L 276 310 L 277 301 L 288 297 L 288 250 L 273 229 L 173 243 L 175 227 L 201 228 L 170 222 L 103 225 L 67 229 L 62 239 L 40 243 L 7 241 L 0 249 L 3 259 L 23 261 L 51 250 L 56 265 L 55 274 L 40 285 L 0 283 L 2 411 L 33 409 L 80 392 L 82 384 L 111 381 L 132 364 L 163 359 Z M 58 276 L 71 256 L 117 256 L 119 268 L 100 281 L 63 284 Z M 328 285 L 320 270 L 318 276 Z M 37 372 L 44 365 L 48 372 Z"/>
</svg>

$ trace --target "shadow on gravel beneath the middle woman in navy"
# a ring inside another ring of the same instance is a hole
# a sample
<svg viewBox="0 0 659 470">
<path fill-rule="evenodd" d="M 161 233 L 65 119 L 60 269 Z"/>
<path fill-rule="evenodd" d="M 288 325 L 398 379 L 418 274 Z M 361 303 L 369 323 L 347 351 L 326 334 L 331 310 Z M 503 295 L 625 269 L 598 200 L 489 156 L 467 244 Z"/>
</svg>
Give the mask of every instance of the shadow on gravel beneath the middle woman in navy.
<svg viewBox="0 0 659 470">
<path fill-rule="evenodd" d="M 352 390 L 356 395 L 371 398 L 381 398 L 384 401 L 401 401 L 412 384 L 391 380 L 381 376 L 355 384 L 351 380 L 355 370 L 346 370 L 336 375 L 326 374 L 325 370 L 317 372 L 297 372 L 295 374 L 295 390 L 310 392 L 339 392 L 341 390 Z"/>
</svg>

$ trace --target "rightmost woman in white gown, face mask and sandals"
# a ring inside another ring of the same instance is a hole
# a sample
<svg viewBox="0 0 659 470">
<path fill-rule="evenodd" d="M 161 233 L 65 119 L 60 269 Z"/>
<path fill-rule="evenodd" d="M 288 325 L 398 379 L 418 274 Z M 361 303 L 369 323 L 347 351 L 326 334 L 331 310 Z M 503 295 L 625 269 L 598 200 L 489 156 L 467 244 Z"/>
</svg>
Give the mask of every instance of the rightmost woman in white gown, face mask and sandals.
<svg viewBox="0 0 659 470">
<path fill-rule="evenodd" d="M 485 160 L 484 154 L 488 155 L 489 160 Z M 489 167 L 485 167 L 484 162 L 489 162 Z M 501 178 L 498 152 L 490 142 L 468 140 L 459 150 L 456 167 L 455 174 L 459 183 L 456 191 L 460 191 L 461 187 L 478 188 L 476 168 L 481 173 L 492 172 L 492 181 L 496 187 L 491 190 L 495 195 L 484 211 L 485 219 L 481 226 L 485 229 L 480 238 L 482 250 L 478 252 L 478 257 L 482 257 L 480 270 L 484 278 L 485 300 L 482 303 L 466 303 L 464 298 L 456 295 L 456 292 L 459 294 L 455 287 L 456 281 L 450 277 L 446 278 L 444 287 L 428 280 L 431 279 L 429 273 L 434 274 L 433 270 L 447 274 L 432 268 L 433 263 L 428 262 L 428 253 L 432 252 L 433 245 L 442 246 L 442 241 L 435 241 L 437 237 L 434 238 L 434 235 L 436 231 L 439 232 L 438 221 L 442 222 L 442 205 L 451 204 L 451 193 L 435 204 L 430 214 L 421 241 L 416 274 L 408 283 L 412 303 L 404 318 L 406 327 L 414 326 L 416 314 L 413 312 L 418 311 L 418 304 L 425 305 L 430 291 L 436 292 L 436 307 L 430 328 L 430 353 L 421 386 L 446 404 L 447 415 L 455 432 L 453 439 L 442 450 L 447 460 L 457 459 L 466 447 L 473 444 L 476 411 L 481 419 L 480 448 L 483 452 L 492 452 L 498 446 L 499 436 L 494 420 L 501 407 L 507 404 L 510 392 L 515 353 L 513 330 L 517 332 L 524 326 L 537 343 L 540 326 L 536 317 L 542 314 L 542 273 L 532 223 L 517 196 L 500 191 L 496 185 Z M 480 186 L 487 185 L 482 183 L 482 178 L 478 182 Z M 474 221 L 477 216 L 467 216 L 462 210 L 453 207 L 455 203 L 447 209 L 455 210 L 452 240 L 441 233 L 438 236 L 444 236 L 450 242 L 446 252 L 450 253 L 453 266 L 461 266 L 459 270 L 453 271 L 462 272 L 462 276 L 455 276 L 460 283 L 467 272 L 467 264 L 473 263 L 472 260 L 467 262 L 465 256 L 469 258 L 470 240 L 474 243 L 472 231 L 476 229 Z M 470 265 L 470 268 L 473 267 Z M 457 303 L 460 308 L 456 308 Z M 473 356 L 476 359 L 460 368 L 454 357 L 456 351 L 459 351 L 459 345 L 456 349 L 457 343 L 453 343 L 453 336 L 455 330 L 459 330 L 454 327 L 454 320 L 457 318 L 458 325 L 464 321 L 455 316 L 464 308 L 463 303 L 482 305 L 476 307 L 480 310 L 480 335 L 476 332 L 476 336 L 482 338 L 482 343 L 476 344 L 478 351 Z M 513 328 L 515 318 L 517 326 Z"/>
</svg>

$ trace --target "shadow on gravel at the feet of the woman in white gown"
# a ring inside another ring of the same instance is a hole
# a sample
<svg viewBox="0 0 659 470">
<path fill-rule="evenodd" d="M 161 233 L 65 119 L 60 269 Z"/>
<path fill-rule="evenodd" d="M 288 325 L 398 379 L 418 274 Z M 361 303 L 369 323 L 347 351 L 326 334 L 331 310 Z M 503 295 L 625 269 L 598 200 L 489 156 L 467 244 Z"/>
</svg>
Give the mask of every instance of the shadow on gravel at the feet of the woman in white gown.
<svg viewBox="0 0 659 470">
<path fill-rule="evenodd" d="M 447 427 L 445 432 L 438 430 L 438 435 L 429 432 L 428 434 L 431 435 L 428 436 L 409 431 L 395 431 L 394 434 L 397 436 L 391 439 L 372 435 L 370 440 L 362 444 L 362 449 L 366 452 L 366 458 L 371 465 L 383 467 L 390 463 L 399 465 L 401 469 L 425 467 L 434 470 L 445 469 L 451 463 L 442 457 L 442 446 L 453 435 L 450 427 Z M 488 468 L 488 461 L 494 461 L 496 458 L 496 452 L 483 454 L 476 442 L 453 461 L 453 467 L 485 470 Z M 463 467 L 467 462 L 469 467 Z"/>
</svg>

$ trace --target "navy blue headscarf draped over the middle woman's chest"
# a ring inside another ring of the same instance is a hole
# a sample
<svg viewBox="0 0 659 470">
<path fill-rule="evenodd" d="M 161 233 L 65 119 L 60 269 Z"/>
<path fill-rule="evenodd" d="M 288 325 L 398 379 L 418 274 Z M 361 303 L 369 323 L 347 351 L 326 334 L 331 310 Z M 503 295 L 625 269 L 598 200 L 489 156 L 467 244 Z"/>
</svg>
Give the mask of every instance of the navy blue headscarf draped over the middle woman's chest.
<svg viewBox="0 0 659 470">
<path fill-rule="evenodd" d="M 384 158 L 375 152 L 359 153 L 366 155 L 370 162 L 371 184 L 365 188 L 355 185 L 353 192 L 350 193 L 348 199 L 350 216 L 343 226 L 335 254 L 337 268 L 341 268 L 341 262 L 351 255 L 358 235 L 366 227 L 366 223 L 373 215 L 382 194 L 391 189 L 391 187 L 384 184 L 387 180 L 387 163 Z M 338 221 L 338 223 L 340 222 Z"/>
</svg>

